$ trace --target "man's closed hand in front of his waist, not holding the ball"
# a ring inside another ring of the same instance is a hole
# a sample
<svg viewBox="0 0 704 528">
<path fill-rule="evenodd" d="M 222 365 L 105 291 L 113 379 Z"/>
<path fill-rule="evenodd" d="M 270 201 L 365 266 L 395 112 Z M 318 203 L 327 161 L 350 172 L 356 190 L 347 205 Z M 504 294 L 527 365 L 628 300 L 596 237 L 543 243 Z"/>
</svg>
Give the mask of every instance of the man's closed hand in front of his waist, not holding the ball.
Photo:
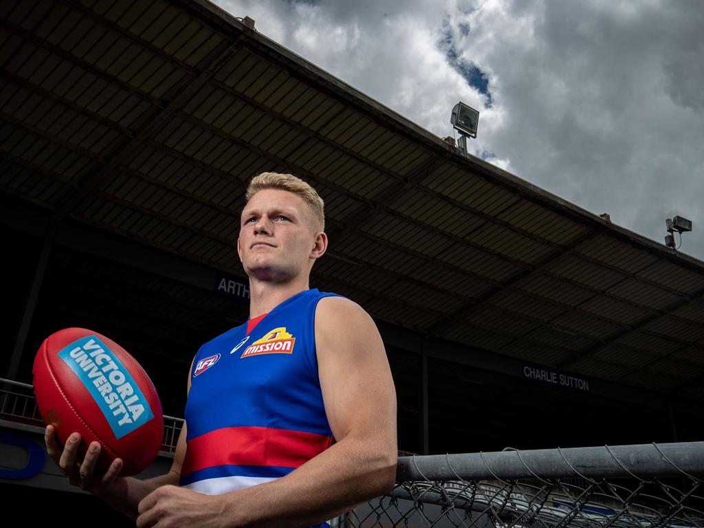
<svg viewBox="0 0 704 528">
<path fill-rule="evenodd" d="M 223 503 L 218 497 L 203 495 L 177 486 L 161 486 L 139 503 L 137 527 L 158 528 L 223 525 Z"/>
</svg>

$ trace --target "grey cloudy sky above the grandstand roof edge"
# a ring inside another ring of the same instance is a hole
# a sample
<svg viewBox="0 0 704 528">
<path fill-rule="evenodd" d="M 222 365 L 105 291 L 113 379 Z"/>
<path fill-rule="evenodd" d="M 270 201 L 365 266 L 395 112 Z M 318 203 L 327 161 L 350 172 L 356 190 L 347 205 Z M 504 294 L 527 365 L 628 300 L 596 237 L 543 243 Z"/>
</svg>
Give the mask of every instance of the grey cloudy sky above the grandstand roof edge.
<svg viewBox="0 0 704 528">
<path fill-rule="evenodd" d="M 702 0 L 216 0 L 430 132 L 704 260 Z"/>
</svg>

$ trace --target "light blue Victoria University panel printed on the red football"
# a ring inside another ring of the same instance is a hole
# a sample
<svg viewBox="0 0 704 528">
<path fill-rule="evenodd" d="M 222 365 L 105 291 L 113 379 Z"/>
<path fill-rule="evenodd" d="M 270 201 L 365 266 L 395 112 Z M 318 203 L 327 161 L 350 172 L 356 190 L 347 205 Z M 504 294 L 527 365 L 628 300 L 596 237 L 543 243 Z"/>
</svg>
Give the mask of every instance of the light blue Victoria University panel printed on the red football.
<svg viewBox="0 0 704 528">
<path fill-rule="evenodd" d="M 130 372 L 96 336 L 74 341 L 65 346 L 58 357 L 73 370 L 93 396 L 115 438 L 122 438 L 154 417 Z"/>
</svg>

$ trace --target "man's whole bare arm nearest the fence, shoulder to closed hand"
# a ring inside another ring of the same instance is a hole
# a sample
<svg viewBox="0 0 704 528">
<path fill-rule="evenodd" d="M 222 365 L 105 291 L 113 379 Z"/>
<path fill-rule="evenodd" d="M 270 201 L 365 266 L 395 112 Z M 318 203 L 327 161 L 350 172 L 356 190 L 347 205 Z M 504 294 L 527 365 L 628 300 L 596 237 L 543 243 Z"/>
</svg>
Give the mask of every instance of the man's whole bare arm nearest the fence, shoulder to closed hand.
<svg viewBox="0 0 704 528">
<path fill-rule="evenodd" d="M 139 505 L 137 526 L 296 527 L 322 522 L 391 491 L 396 477 L 396 391 L 372 319 L 339 297 L 315 318 L 325 411 L 337 443 L 286 477 L 221 496 L 165 486 Z M 188 503 L 189 508 L 179 508 Z M 168 524 L 168 523 L 167 523 Z"/>
</svg>

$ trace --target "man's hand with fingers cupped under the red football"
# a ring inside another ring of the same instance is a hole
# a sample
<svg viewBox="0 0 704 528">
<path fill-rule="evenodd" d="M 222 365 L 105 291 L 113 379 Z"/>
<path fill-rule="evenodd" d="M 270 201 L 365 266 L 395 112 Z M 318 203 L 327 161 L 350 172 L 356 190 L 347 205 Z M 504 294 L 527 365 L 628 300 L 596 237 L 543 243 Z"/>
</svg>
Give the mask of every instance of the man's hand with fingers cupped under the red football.
<svg viewBox="0 0 704 528">
<path fill-rule="evenodd" d="M 118 479 L 120 470 L 122 470 L 122 459 L 115 458 L 105 474 L 96 475 L 95 467 L 100 456 L 100 444 L 96 441 L 91 442 L 85 457 L 79 461 L 77 453 L 81 441 L 81 435 L 73 433 L 68 437 L 63 451 L 61 451 L 54 426 L 46 426 L 46 432 L 44 432 L 46 453 L 68 477 L 68 482 L 99 496 L 115 493 L 115 488 L 119 487 L 123 480 Z"/>
</svg>

